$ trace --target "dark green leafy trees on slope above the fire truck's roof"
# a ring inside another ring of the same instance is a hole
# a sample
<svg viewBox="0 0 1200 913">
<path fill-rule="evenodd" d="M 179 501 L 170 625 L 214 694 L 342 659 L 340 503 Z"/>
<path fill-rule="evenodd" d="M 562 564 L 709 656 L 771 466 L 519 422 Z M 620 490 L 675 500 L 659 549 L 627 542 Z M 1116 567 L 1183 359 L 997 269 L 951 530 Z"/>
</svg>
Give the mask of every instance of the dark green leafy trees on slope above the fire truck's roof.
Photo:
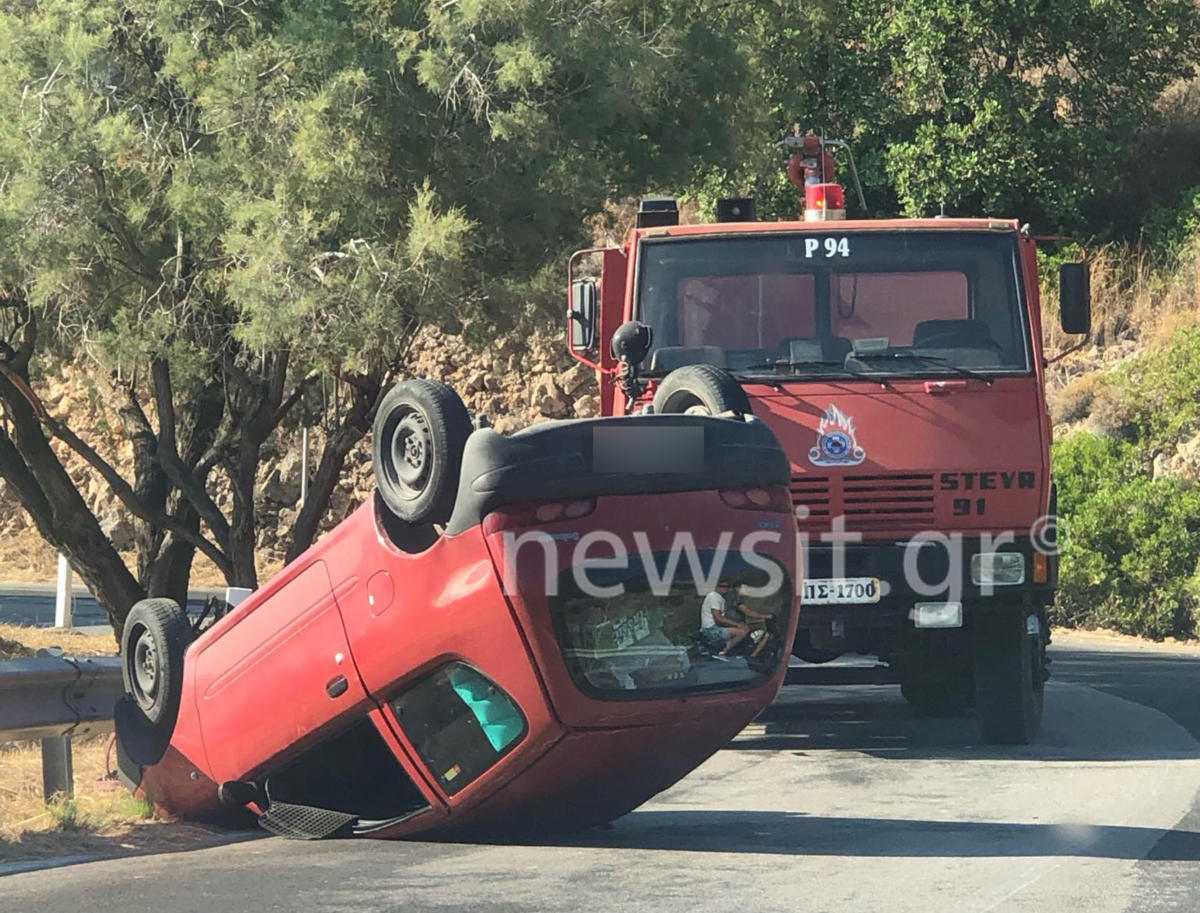
<svg viewBox="0 0 1200 913">
<path fill-rule="evenodd" d="M 761 48 L 743 112 L 755 145 L 700 176 L 704 198 L 754 187 L 761 211 L 794 217 L 769 154 L 793 121 L 853 140 L 878 214 L 944 204 L 1109 235 L 1176 193 L 1153 186 L 1154 163 L 1174 155 L 1159 149 L 1156 102 L 1200 58 L 1193 0 L 762 4 L 743 26 Z"/>
</svg>

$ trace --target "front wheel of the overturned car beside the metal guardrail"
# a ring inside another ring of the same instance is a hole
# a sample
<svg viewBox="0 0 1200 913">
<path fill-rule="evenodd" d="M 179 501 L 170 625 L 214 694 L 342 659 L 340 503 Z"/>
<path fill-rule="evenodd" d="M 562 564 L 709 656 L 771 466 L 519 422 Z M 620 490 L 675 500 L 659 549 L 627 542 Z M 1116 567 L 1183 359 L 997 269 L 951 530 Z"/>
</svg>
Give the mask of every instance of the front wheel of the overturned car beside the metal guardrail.
<svg viewBox="0 0 1200 913">
<path fill-rule="evenodd" d="M 170 599 L 134 603 L 121 631 L 121 680 L 151 727 L 170 733 L 184 691 L 184 653 L 192 626 Z"/>
</svg>

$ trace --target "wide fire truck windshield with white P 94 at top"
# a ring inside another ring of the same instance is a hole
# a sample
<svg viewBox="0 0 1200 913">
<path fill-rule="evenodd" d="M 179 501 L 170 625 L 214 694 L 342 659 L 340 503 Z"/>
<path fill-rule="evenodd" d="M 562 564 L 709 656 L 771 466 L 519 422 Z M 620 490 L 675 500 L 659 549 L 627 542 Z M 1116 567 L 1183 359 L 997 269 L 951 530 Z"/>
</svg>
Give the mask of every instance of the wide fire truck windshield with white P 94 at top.
<svg viewBox="0 0 1200 913">
<path fill-rule="evenodd" d="M 648 239 L 641 320 L 653 374 L 1024 373 L 1016 244 L 1004 232 L 844 232 Z"/>
</svg>

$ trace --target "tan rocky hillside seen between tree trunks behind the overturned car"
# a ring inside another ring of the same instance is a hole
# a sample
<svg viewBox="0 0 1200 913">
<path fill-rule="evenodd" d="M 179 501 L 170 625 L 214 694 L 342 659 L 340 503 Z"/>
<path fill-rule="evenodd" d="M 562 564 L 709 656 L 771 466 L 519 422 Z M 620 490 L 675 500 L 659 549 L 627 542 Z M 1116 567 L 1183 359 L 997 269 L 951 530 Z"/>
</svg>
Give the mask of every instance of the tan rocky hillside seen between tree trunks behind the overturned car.
<svg viewBox="0 0 1200 913">
<path fill-rule="evenodd" d="M 473 415 L 486 415 L 500 432 L 510 432 L 550 419 L 587 418 L 598 412 L 595 376 L 564 352 L 562 336 L 545 330 L 533 337 L 502 337 L 486 350 L 473 349 L 461 338 L 426 331 L 413 348 L 412 374 L 444 380 L 458 391 Z M 52 414 L 68 418 L 71 426 L 119 469 L 132 461 L 132 446 L 115 428 L 115 414 L 104 391 L 86 366 L 65 370 L 44 386 Z M 320 430 L 310 433 L 310 459 L 316 463 L 323 445 Z M 116 547 L 133 563 L 133 525 L 83 461 L 68 455 L 72 477 Z M 283 560 L 288 531 L 299 513 L 301 436 L 281 433 L 264 448 L 259 470 L 259 566 L 270 572 Z M 217 479 L 216 500 L 228 510 L 232 495 L 223 476 Z M 336 525 L 362 503 L 373 486 L 370 436 L 350 454 L 346 473 L 330 499 L 325 529 Z M 0 579 L 50 581 L 55 555 L 38 536 L 29 516 L 0 479 Z M 215 567 L 198 560 L 197 585 L 223 583 Z"/>
</svg>

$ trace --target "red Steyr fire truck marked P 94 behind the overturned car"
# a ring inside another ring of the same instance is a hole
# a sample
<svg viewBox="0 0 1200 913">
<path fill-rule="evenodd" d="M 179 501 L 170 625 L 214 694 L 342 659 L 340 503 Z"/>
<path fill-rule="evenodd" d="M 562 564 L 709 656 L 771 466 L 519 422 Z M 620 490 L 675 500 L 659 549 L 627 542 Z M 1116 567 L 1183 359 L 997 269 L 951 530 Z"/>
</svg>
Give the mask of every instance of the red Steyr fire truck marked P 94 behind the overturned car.
<svg viewBox="0 0 1200 913">
<path fill-rule="evenodd" d="M 973 707 L 986 740 L 1025 743 L 1057 570 L 1036 239 L 1002 218 L 847 220 L 848 146 L 780 145 L 803 220 L 732 199 L 683 226 L 643 199 L 624 245 L 571 259 L 569 349 L 605 415 L 750 412 L 775 432 L 806 546 L 794 655 L 880 656 L 918 710 Z M 1061 270 L 1062 326 L 1086 334 L 1086 264 Z"/>
</svg>

